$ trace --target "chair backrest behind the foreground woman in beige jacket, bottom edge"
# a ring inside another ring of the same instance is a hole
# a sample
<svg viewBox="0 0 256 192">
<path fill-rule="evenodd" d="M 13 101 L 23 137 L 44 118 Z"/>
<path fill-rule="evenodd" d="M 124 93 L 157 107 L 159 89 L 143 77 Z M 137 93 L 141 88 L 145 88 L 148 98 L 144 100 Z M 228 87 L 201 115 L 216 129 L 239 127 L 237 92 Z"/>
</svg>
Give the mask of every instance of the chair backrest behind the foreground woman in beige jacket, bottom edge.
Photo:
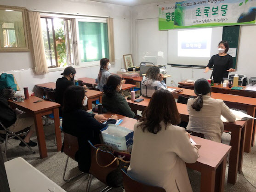
<svg viewBox="0 0 256 192">
<path fill-rule="evenodd" d="M 162 187 L 152 186 L 134 180 L 123 169 L 122 174 L 125 192 L 165 192 L 165 189 Z"/>
</svg>

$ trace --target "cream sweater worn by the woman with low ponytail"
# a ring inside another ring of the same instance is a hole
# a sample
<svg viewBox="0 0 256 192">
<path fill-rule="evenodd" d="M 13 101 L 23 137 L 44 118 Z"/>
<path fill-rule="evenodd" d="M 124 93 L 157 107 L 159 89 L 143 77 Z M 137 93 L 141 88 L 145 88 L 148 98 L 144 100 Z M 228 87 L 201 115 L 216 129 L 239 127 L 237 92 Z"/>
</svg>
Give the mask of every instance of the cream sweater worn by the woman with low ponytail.
<svg viewBox="0 0 256 192">
<path fill-rule="evenodd" d="M 200 111 L 192 108 L 195 99 L 188 99 L 188 130 L 202 133 L 205 139 L 216 142 L 222 141 L 224 125 L 221 120 L 223 115 L 229 122 L 235 121 L 235 116 L 221 99 L 203 96 L 203 107 Z"/>
</svg>

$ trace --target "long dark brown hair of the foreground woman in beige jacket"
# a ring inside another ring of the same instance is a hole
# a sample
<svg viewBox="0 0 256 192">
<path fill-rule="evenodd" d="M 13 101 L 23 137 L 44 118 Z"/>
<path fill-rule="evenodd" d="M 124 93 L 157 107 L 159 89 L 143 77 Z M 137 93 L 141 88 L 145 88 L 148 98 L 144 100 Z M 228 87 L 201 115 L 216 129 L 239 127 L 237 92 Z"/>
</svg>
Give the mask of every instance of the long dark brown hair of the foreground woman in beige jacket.
<svg viewBox="0 0 256 192">
<path fill-rule="evenodd" d="M 171 92 L 164 89 L 155 91 L 139 121 L 142 121 L 140 126 L 143 132 L 147 130 L 154 134 L 157 134 L 162 129 L 159 124 L 161 121 L 165 123 L 165 130 L 167 124 L 179 124 L 181 118 Z"/>
</svg>

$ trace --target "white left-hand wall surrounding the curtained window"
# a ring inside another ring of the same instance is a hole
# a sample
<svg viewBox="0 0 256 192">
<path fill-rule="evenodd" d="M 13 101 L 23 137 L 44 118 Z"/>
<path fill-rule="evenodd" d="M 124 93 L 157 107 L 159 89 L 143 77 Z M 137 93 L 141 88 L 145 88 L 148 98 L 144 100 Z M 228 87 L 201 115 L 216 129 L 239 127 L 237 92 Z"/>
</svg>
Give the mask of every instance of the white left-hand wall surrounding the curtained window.
<svg viewBox="0 0 256 192">
<path fill-rule="evenodd" d="M 115 64 L 111 73 L 124 68 L 123 55 L 131 53 L 131 7 L 83 0 L 1 0 L 0 5 L 21 6 L 28 10 L 61 12 L 80 15 L 93 15 L 114 18 Z M 113 63 L 112 63 L 113 64 Z M 56 81 L 62 71 L 51 71 L 44 75 L 35 75 L 30 52 L 0 52 L 0 73 L 14 73 L 20 87 Z M 98 66 L 76 68 L 76 78 L 97 78 Z M 33 79 L 33 80 L 31 80 Z"/>
</svg>

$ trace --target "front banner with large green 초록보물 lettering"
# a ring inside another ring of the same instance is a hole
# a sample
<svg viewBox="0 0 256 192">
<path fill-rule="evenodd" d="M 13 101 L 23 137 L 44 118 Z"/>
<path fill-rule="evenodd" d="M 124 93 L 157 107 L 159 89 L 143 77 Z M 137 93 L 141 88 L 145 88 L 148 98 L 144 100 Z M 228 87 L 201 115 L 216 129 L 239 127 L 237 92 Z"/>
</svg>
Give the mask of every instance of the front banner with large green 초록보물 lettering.
<svg viewBox="0 0 256 192">
<path fill-rule="evenodd" d="M 255 24 L 256 0 L 176 2 L 174 28 Z"/>
</svg>

